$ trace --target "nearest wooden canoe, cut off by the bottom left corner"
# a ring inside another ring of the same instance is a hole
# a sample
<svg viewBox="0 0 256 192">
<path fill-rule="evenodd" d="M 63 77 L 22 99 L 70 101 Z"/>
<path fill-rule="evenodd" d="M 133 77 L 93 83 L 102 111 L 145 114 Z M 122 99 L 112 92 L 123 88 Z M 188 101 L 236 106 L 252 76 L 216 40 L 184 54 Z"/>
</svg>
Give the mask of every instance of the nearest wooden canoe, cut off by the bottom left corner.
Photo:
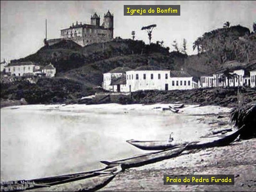
<svg viewBox="0 0 256 192">
<path fill-rule="evenodd" d="M 95 191 L 107 185 L 120 171 L 121 166 L 107 166 L 77 174 L 1 183 L 1 191 Z"/>
</svg>

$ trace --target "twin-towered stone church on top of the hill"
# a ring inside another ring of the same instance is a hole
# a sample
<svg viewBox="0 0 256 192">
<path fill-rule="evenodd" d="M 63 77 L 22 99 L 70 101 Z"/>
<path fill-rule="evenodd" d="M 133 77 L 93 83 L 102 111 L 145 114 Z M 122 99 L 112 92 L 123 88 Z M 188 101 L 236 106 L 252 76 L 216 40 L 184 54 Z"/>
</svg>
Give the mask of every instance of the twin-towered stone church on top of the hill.
<svg viewBox="0 0 256 192">
<path fill-rule="evenodd" d="M 114 16 L 108 11 L 104 14 L 103 23 L 100 23 L 100 16 L 96 13 L 91 16 L 91 24 L 74 25 L 74 23 L 63 30 L 60 30 L 60 39 L 68 39 L 78 43 L 80 46 L 86 46 L 92 43 L 107 42 L 113 39 Z M 59 39 L 49 39 L 50 44 L 59 42 Z"/>
</svg>

